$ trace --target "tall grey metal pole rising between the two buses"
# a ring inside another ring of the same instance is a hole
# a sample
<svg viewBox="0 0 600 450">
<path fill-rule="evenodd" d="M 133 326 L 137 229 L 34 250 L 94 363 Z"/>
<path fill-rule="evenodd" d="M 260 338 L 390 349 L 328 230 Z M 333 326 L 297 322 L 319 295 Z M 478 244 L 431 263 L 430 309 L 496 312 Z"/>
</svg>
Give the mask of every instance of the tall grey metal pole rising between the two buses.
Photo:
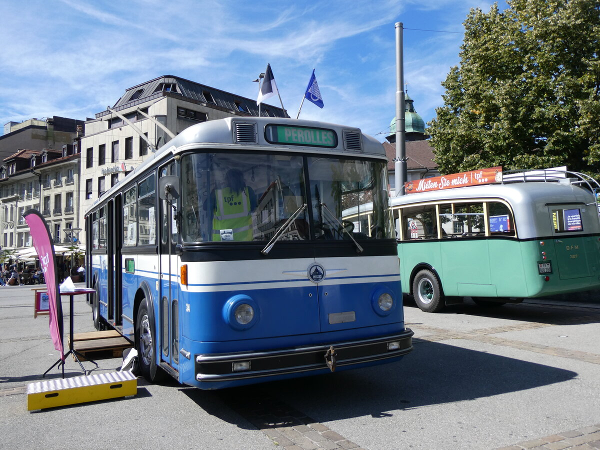
<svg viewBox="0 0 600 450">
<path fill-rule="evenodd" d="M 395 196 L 404 195 L 406 174 L 406 122 L 404 119 L 404 54 L 403 24 L 397 22 L 396 28 L 396 160 L 394 163 Z"/>
</svg>

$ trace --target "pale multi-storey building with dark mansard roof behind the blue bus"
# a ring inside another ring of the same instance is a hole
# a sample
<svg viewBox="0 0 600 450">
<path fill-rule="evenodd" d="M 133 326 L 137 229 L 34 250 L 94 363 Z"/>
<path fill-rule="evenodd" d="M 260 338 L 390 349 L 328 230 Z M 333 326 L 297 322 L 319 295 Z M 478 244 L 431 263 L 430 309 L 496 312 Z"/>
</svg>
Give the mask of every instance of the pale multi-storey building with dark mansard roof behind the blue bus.
<svg viewBox="0 0 600 450">
<path fill-rule="evenodd" d="M 113 107 L 85 122 L 81 144 L 82 215 L 171 135 L 198 122 L 259 113 L 263 117 L 289 117 L 284 109 L 263 103 L 259 111 L 256 99 L 172 75 L 125 89 Z M 80 219 L 83 223 L 83 217 Z"/>
</svg>

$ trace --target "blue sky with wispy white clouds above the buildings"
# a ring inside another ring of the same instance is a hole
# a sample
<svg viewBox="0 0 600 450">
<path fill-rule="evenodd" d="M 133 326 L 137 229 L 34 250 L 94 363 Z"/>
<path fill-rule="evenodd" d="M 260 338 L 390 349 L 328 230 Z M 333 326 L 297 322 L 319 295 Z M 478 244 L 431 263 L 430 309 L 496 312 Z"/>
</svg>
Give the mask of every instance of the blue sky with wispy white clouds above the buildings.
<svg viewBox="0 0 600 450">
<path fill-rule="evenodd" d="M 395 115 L 394 24 L 404 24 L 404 80 L 428 122 L 458 64 L 469 9 L 491 4 L 0 0 L 0 125 L 94 117 L 125 89 L 166 74 L 256 98 L 252 80 L 269 62 L 290 116 L 315 68 L 325 107 L 305 102 L 300 117 L 383 140 Z"/>
</svg>

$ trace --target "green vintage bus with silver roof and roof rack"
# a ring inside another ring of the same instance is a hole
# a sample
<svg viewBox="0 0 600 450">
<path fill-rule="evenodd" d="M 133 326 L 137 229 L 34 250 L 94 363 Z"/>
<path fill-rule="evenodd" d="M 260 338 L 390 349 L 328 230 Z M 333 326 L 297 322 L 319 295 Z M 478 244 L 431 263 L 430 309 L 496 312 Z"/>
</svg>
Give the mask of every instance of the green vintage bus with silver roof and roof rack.
<svg viewBox="0 0 600 450">
<path fill-rule="evenodd" d="M 465 297 L 494 306 L 600 287 L 600 185 L 556 169 L 500 179 L 391 199 L 403 293 L 421 310 Z M 368 231 L 368 215 L 353 225 Z"/>
</svg>

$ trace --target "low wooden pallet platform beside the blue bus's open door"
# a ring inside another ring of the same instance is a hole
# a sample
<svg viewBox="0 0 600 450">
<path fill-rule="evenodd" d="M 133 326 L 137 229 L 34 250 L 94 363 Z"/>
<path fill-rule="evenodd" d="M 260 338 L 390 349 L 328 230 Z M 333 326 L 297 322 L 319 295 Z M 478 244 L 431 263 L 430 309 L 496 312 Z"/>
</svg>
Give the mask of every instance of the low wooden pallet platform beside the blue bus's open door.
<svg viewBox="0 0 600 450">
<path fill-rule="evenodd" d="M 123 350 L 130 347 L 133 347 L 133 344 L 116 330 L 91 331 L 73 335 L 73 350 L 79 353 L 81 361 L 120 358 Z"/>
</svg>

